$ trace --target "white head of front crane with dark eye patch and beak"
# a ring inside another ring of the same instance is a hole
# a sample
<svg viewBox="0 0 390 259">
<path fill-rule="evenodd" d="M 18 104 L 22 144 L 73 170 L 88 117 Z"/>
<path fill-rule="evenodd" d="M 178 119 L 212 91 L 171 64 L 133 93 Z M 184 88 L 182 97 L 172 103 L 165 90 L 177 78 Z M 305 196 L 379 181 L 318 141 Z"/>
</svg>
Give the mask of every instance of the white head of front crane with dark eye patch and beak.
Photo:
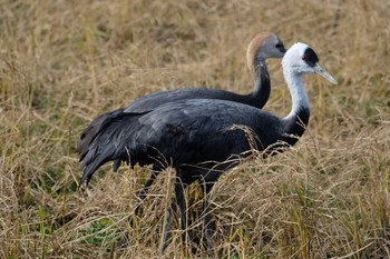
<svg viewBox="0 0 390 259">
<path fill-rule="evenodd" d="M 314 50 L 305 43 L 294 43 L 284 54 L 282 60 L 283 70 L 295 73 L 318 73 L 330 82 L 338 84 L 338 81 L 319 63 Z"/>
</svg>

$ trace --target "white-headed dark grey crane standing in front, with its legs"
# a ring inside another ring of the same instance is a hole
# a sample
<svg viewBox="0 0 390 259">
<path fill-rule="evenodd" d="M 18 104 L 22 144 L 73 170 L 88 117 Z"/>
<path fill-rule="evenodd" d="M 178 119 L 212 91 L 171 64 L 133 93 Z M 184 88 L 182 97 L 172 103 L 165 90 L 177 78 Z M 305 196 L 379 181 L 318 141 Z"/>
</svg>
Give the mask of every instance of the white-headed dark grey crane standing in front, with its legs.
<svg viewBox="0 0 390 259">
<path fill-rule="evenodd" d="M 292 110 L 280 118 L 255 107 L 225 100 L 191 99 L 163 104 L 138 116 L 121 112 L 111 118 L 82 157 L 80 185 L 110 160 L 131 167 L 153 165 L 154 173 L 168 166 L 176 170 L 175 199 L 166 217 L 163 250 L 168 245 L 172 212 L 181 211 L 182 229 L 187 228 L 184 189 L 198 181 L 204 190 L 203 226 L 207 247 L 213 248 L 209 229 L 208 193 L 223 171 L 235 166 L 233 156 L 247 156 L 255 148 L 264 156 L 293 146 L 309 122 L 310 107 L 302 74 L 318 73 L 330 82 L 333 77 L 319 64 L 316 53 L 304 43 L 293 44 L 282 60 L 283 74 L 292 98 Z M 253 138 L 248 141 L 250 129 Z M 164 162 L 164 161 L 169 161 Z"/>
</svg>

